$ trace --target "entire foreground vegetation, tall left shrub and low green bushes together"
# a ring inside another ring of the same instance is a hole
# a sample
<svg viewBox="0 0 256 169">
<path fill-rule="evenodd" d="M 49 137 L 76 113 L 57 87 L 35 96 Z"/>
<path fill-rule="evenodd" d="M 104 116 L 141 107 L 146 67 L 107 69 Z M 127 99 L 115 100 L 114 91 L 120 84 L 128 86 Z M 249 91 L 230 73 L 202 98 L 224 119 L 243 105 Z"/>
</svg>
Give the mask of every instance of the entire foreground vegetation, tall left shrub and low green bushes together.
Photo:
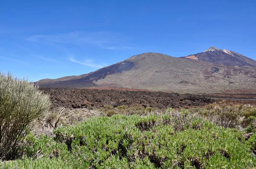
<svg viewBox="0 0 256 169">
<path fill-rule="evenodd" d="M 220 102 L 163 112 L 105 105 L 43 114 L 49 105 L 49 96 L 26 79 L 0 73 L 0 160 L 12 160 L 1 161 L 1 169 L 245 169 L 256 163 L 254 106 Z M 38 136 L 39 127 L 52 133 Z"/>
</svg>

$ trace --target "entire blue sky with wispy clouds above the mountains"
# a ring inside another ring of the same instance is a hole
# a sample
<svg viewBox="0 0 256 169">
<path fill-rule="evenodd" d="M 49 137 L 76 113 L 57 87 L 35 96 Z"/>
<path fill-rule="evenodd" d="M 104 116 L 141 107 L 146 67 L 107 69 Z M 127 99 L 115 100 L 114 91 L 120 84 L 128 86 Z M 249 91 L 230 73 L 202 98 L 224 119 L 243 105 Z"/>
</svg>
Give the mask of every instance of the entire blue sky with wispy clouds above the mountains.
<svg viewBox="0 0 256 169">
<path fill-rule="evenodd" d="M 31 81 L 211 46 L 256 59 L 255 0 L 0 1 L 0 71 Z"/>
</svg>

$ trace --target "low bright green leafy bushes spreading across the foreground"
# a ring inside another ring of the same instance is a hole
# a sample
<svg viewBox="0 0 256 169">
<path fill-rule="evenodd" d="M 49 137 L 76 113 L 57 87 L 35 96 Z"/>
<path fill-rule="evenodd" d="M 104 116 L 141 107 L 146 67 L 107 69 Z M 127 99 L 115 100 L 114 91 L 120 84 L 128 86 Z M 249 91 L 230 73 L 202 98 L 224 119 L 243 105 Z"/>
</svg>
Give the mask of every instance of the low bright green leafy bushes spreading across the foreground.
<svg viewBox="0 0 256 169">
<path fill-rule="evenodd" d="M 27 145 L 20 149 L 23 160 L 3 162 L 3 168 L 240 169 L 256 163 L 250 151 L 254 135 L 241 140 L 238 130 L 189 111 L 90 117 L 54 132 L 53 138 L 27 135 Z"/>
</svg>

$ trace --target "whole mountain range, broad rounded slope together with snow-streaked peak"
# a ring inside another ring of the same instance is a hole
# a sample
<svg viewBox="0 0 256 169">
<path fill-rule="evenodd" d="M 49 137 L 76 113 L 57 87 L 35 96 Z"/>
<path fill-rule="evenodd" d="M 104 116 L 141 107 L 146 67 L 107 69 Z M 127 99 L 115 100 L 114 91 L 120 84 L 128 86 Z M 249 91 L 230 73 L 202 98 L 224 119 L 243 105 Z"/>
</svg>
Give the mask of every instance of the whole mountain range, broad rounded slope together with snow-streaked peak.
<svg viewBox="0 0 256 169">
<path fill-rule="evenodd" d="M 132 56 L 80 76 L 43 79 L 48 87 L 122 87 L 182 93 L 256 91 L 256 61 L 233 51 L 211 47 L 181 58 L 158 53 Z"/>
</svg>

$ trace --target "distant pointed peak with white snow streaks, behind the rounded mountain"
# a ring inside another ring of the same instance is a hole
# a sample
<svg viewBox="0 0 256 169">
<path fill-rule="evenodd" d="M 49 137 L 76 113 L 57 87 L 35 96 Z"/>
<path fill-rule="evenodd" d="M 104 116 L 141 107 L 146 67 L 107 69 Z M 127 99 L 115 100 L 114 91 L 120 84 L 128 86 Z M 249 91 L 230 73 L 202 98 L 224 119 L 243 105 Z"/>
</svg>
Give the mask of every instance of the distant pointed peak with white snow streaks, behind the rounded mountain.
<svg viewBox="0 0 256 169">
<path fill-rule="evenodd" d="M 200 60 L 216 65 L 226 66 L 256 66 L 256 61 L 244 55 L 225 49 L 211 47 L 204 52 L 185 56 L 183 58 Z"/>
</svg>

